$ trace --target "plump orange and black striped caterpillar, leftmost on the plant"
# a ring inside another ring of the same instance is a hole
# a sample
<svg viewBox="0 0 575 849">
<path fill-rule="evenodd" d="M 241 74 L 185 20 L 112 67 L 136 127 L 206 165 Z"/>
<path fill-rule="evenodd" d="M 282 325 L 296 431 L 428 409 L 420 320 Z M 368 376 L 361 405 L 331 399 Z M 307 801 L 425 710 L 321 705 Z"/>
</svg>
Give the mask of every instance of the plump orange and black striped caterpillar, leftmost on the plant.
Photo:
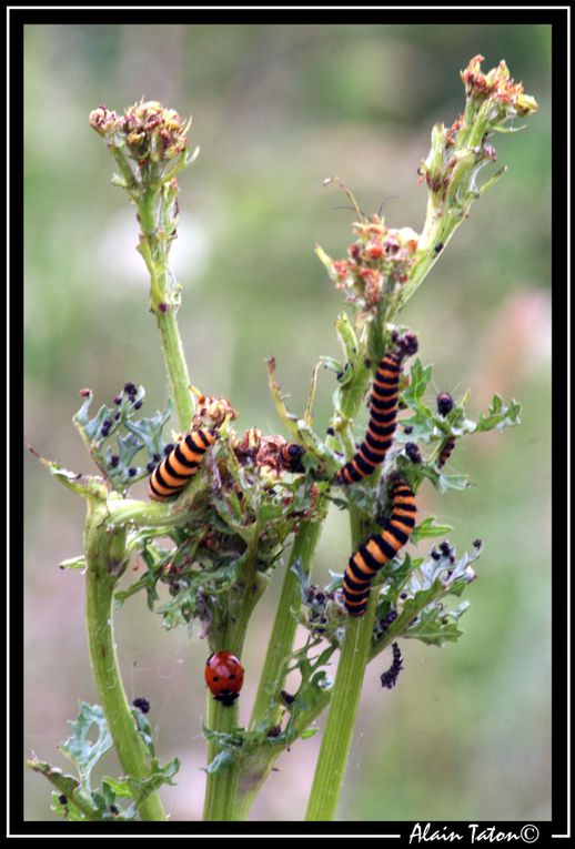
<svg viewBox="0 0 575 849">
<path fill-rule="evenodd" d="M 216 438 L 216 431 L 211 428 L 190 431 L 152 472 L 148 485 L 150 498 L 163 502 L 178 495 L 195 475 L 205 451 Z"/>
</svg>

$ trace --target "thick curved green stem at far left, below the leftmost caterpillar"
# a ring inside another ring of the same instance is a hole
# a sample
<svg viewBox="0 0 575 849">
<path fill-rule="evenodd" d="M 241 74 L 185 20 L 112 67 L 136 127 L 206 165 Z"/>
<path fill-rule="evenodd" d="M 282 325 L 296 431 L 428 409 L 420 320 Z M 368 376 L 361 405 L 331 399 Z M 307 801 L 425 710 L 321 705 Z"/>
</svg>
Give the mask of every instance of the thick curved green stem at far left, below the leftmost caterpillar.
<svg viewBox="0 0 575 849">
<path fill-rule="evenodd" d="M 138 735 L 120 675 L 113 633 L 113 590 L 124 563 L 125 532 L 108 526 L 105 504 L 90 503 L 84 532 L 87 560 L 85 621 L 92 673 L 105 720 L 124 772 L 143 780 L 151 775 L 144 742 Z M 165 820 L 157 792 L 141 803 L 143 820 Z"/>
</svg>

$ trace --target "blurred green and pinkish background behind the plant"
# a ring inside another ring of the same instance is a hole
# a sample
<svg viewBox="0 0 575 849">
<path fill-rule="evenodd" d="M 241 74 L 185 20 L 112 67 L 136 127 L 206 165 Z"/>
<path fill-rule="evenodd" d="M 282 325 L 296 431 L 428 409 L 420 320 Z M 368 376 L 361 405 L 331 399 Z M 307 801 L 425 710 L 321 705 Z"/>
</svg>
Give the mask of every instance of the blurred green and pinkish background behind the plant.
<svg viewBox="0 0 575 849">
<path fill-rule="evenodd" d="M 343 304 L 314 256 L 345 255 L 353 213 L 324 178 L 339 174 L 367 212 L 421 230 L 416 169 L 435 121 L 464 103 L 460 70 L 505 59 L 539 102 L 516 135 L 497 137 L 508 174 L 470 221 L 403 314 L 420 335 L 437 390 L 493 392 L 524 404 L 523 424 L 457 445 L 451 464 L 475 484 L 423 491 L 422 509 L 455 526 L 460 554 L 481 536 L 465 635 L 444 650 L 404 641 L 394 691 L 367 671 L 340 817 L 345 820 L 546 819 L 549 719 L 549 89 L 546 26 L 221 24 L 26 27 L 26 436 L 68 468 L 93 471 L 71 416 L 143 383 L 151 413 L 167 378 L 137 223 L 110 185 L 112 162 L 88 125 L 100 103 L 160 100 L 193 114 L 201 154 L 181 179 L 173 269 L 184 286 L 180 327 L 192 381 L 241 411 L 239 432 L 279 431 L 264 360 L 302 410 L 313 365 L 339 355 Z M 333 375 L 322 372 L 316 421 L 326 426 Z M 141 494 L 144 493 L 143 486 Z M 56 751 L 79 698 L 95 701 L 83 624 L 83 580 L 58 568 L 82 548 L 84 506 L 26 456 L 24 752 Z M 428 550 L 423 547 L 423 550 Z M 331 515 L 316 577 L 343 570 L 345 517 Z M 282 576 L 254 615 L 243 657 L 248 720 Z M 145 696 L 165 761 L 183 759 L 163 792 L 174 820 L 198 819 L 205 715 L 198 629 L 165 633 L 142 596 L 118 616 L 130 698 Z M 299 741 L 252 812 L 303 818 L 321 735 Z M 115 775 L 110 756 L 107 771 Z M 26 776 L 27 818 L 52 819 L 49 788 Z"/>
</svg>

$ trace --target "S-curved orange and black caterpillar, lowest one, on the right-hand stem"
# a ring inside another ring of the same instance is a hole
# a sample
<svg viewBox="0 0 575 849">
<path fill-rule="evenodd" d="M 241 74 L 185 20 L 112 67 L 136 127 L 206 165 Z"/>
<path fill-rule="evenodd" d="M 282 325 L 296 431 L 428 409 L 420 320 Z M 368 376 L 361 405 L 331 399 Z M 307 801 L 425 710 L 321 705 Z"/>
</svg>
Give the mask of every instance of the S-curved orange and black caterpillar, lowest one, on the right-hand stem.
<svg viewBox="0 0 575 849">
<path fill-rule="evenodd" d="M 402 548 L 415 525 L 415 496 L 404 481 L 392 486 L 392 515 L 350 557 L 343 576 L 343 600 L 350 616 L 363 616 L 374 575 Z"/>
</svg>

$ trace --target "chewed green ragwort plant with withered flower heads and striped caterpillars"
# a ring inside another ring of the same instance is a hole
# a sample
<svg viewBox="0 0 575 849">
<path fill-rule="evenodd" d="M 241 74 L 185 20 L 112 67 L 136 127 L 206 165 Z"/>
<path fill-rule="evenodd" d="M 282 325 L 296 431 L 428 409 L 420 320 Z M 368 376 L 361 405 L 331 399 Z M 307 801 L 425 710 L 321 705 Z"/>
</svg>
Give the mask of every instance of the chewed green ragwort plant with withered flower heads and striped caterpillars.
<svg viewBox="0 0 575 849">
<path fill-rule="evenodd" d="M 505 62 L 484 74 L 482 60 L 475 57 L 462 72 L 465 109 L 451 127 L 433 128 L 430 154 L 420 165 L 421 182 L 427 186 L 421 234 L 389 228 L 381 214 L 363 214 L 337 178 L 326 181 L 339 183 L 357 213 L 345 259 L 333 260 L 316 249 L 350 310 L 335 321 L 341 360 L 321 358 L 301 414 L 286 407 L 275 362 L 269 361 L 271 394 L 290 442 L 256 428 L 238 434 L 232 404 L 191 385 L 176 324 L 181 286 L 168 264 L 178 230 L 176 176 L 198 152 L 190 151 L 190 122 L 157 102 L 139 102 L 123 114 L 103 105 L 91 113 L 90 124 L 115 163 L 112 182 L 137 210 L 138 250 L 150 275 L 150 309 L 173 404 L 151 417 L 141 416 L 144 390 L 129 383 L 110 406 L 93 413 L 92 392 L 82 390 L 73 422 L 100 475 L 79 476 L 40 458 L 85 499 L 84 552 L 62 566 L 81 568 L 85 577 L 90 658 L 101 703 L 81 703 L 71 722 L 73 734 L 61 747 L 75 774 L 67 775 L 36 756 L 27 761 L 52 784 L 52 807 L 62 817 L 167 819 L 158 789 L 174 782 L 179 760 L 158 760 L 147 719 L 150 705 L 145 699 L 128 704 L 114 644 L 114 616 L 135 594 L 143 594 L 148 609 L 162 617 L 165 628 L 186 626 L 191 636 L 196 624 L 212 653 L 241 658 L 251 614 L 272 572 L 284 570 L 248 727 L 238 725 L 233 687 L 225 698 L 208 694 L 202 729 L 208 748 L 205 820 L 245 819 L 278 757 L 299 738 L 313 735 L 324 710 L 327 720 L 305 816 L 332 819 L 367 664 L 392 647 L 391 665 L 381 676 L 382 686 L 392 688 L 402 669 L 400 640 L 442 646 L 460 638 L 460 618 L 468 604 L 461 596 L 475 579 L 481 540 L 473 542 L 468 553 L 456 554 L 445 538 L 452 528 L 431 516 L 417 515 L 415 524 L 414 505 L 422 485 L 440 493 L 465 489 L 467 477 L 448 471 L 451 452 L 472 434 L 517 424 L 519 405 L 504 404 L 494 395 L 476 421 L 468 416 L 466 394 L 452 398 L 442 393 L 430 405 L 432 366 L 415 357 L 408 372 L 405 367 L 417 343 L 403 323 L 403 312 L 471 204 L 504 173 L 503 168 L 478 181 L 480 172 L 495 161 L 493 135 L 522 129 L 514 125 L 515 119 L 537 109 L 511 79 Z M 403 353 L 394 360 L 394 352 Z M 322 366 L 335 385 L 325 438 L 313 422 Z M 370 426 L 357 448 L 355 421 L 370 387 Z M 400 429 L 397 407 L 407 413 Z M 183 436 L 167 445 L 164 428 L 173 412 Z M 202 428 L 214 434 L 213 445 L 194 454 Z M 185 434 L 195 442 L 186 443 Z M 355 471 L 353 481 L 344 482 L 337 473 L 346 463 Z M 131 498 L 130 487 L 151 474 L 160 487 L 151 492 L 155 497 Z M 313 562 L 331 505 L 349 514 L 352 557 L 347 568 L 342 557 L 330 584 L 319 586 Z M 407 537 L 417 550 L 403 550 Z M 440 538 L 436 547 L 427 542 Z M 426 543 L 432 547 L 424 550 Z M 137 555 L 145 570 L 124 583 Z M 168 602 L 160 599 L 162 584 Z M 354 598 L 362 599 L 363 615 L 351 615 L 356 613 Z M 299 625 L 307 637 L 295 648 Z M 331 680 L 326 667 L 336 655 Z M 288 693 L 285 679 L 294 670 L 299 686 Z M 92 787 L 91 770 L 112 746 L 122 776 Z"/>
</svg>

